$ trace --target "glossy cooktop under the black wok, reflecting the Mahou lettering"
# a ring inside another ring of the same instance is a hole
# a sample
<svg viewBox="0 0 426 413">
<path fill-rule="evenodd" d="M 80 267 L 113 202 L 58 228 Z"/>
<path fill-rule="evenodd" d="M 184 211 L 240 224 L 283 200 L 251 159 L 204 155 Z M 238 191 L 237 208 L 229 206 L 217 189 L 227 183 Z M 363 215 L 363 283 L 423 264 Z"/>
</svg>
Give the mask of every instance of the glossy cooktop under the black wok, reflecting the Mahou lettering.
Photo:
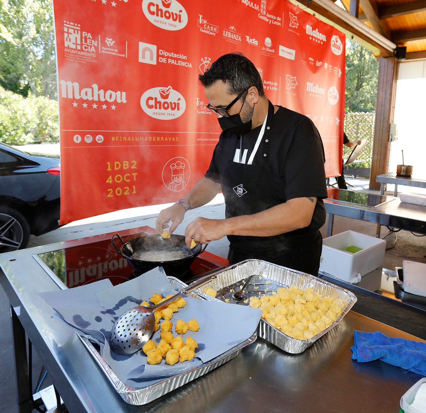
<svg viewBox="0 0 426 413">
<path fill-rule="evenodd" d="M 144 234 L 146 233 L 132 234 L 124 239 Z M 115 250 L 109 238 L 33 256 L 61 289 L 74 288 L 105 278 L 108 278 L 112 285 L 118 285 L 141 275 Z M 184 282 L 193 281 L 202 274 L 219 268 L 223 266 L 197 256 L 190 268 L 177 278 Z"/>
</svg>

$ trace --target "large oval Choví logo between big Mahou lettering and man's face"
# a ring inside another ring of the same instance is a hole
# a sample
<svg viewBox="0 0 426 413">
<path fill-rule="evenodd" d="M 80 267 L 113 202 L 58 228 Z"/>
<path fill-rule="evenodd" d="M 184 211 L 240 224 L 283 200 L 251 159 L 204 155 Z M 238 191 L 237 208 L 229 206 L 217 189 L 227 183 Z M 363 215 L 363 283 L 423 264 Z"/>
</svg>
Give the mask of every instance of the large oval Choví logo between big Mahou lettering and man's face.
<svg viewBox="0 0 426 413">
<path fill-rule="evenodd" d="M 152 88 L 141 96 L 141 108 L 155 119 L 176 119 L 185 111 L 185 99 L 171 86 Z"/>
</svg>

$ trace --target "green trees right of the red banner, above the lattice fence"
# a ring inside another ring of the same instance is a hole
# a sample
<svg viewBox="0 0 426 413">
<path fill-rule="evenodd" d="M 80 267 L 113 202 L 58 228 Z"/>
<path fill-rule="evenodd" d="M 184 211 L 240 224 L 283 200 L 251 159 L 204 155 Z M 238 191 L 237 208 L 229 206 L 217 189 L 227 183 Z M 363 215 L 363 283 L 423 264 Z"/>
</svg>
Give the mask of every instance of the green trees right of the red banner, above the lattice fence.
<svg viewBox="0 0 426 413">
<path fill-rule="evenodd" d="M 374 112 L 376 110 L 378 70 L 379 64 L 374 54 L 347 38 L 346 112 Z"/>
</svg>

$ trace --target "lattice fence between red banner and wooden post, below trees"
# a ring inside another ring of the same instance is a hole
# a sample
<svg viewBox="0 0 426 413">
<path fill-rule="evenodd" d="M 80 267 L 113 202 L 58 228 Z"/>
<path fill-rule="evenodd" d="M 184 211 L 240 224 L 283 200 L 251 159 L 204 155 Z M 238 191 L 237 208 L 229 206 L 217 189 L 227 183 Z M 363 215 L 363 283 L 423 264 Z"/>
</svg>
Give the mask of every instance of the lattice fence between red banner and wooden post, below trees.
<svg viewBox="0 0 426 413">
<path fill-rule="evenodd" d="M 347 112 L 345 113 L 345 133 L 351 142 L 367 138 L 357 160 L 351 164 L 354 168 L 371 168 L 374 137 L 374 112 Z M 348 159 L 352 148 L 343 145 L 343 159 Z"/>
</svg>

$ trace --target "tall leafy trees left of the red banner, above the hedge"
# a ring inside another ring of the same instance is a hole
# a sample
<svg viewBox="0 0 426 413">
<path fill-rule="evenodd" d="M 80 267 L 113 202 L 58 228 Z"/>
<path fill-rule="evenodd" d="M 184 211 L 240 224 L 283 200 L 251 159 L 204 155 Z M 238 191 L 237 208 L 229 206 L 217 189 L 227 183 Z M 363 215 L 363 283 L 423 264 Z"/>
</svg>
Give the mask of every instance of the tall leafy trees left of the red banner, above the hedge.
<svg viewBox="0 0 426 413">
<path fill-rule="evenodd" d="M 0 0 L 0 85 L 56 99 L 52 0 Z"/>
</svg>

